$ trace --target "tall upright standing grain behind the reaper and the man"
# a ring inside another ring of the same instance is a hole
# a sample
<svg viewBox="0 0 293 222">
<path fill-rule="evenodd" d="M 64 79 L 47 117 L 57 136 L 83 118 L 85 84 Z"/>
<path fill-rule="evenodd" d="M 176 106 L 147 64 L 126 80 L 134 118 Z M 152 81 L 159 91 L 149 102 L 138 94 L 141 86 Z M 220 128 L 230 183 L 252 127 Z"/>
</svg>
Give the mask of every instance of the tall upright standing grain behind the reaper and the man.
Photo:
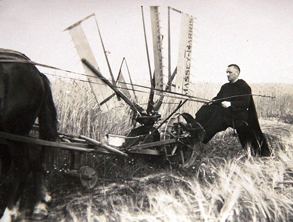
<svg viewBox="0 0 293 222">
<path fill-rule="evenodd" d="M 219 91 L 221 83 L 198 82 L 192 89 L 192 96 L 204 99 L 212 99 Z M 280 121 L 293 122 L 293 84 L 279 83 L 254 83 L 251 84 L 252 94 L 275 97 L 253 96 L 258 116 L 262 119 L 278 119 Z M 100 113 L 91 88 L 86 82 L 64 81 L 55 79 L 52 81 L 53 96 L 58 108 L 60 131 L 72 134 L 87 134 L 99 138 L 101 133 L 121 133 L 131 128 L 131 119 L 128 105 L 125 102 L 116 102 L 116 108 L 107 113 Z M 146 93 L 138 93 L 139 103 L 146 104 Z M 155 98 L 156 99 L 156 98 Z M 115 98 L 113 99 L 115 100 Z M 183 99 L 182 99 L 183 100 Z M 167 117 L 178 105 L 179 99 L 166 97 L 159 112 L 162 117 Z M 181 109 L 182 112 L 195 112 L 202 103 L 188 101 Z M 146 107 L 146 105 L 142 105 Z M 121 127 L 121 128 L 120 128 Z"/>
</svg>

